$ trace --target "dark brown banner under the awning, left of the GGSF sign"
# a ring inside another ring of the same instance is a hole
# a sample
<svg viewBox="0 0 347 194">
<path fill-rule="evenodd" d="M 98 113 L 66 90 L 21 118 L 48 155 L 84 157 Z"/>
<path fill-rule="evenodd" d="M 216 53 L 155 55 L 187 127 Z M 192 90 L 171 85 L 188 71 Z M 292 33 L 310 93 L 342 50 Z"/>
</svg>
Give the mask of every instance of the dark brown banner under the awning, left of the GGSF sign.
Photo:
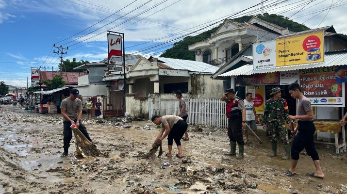
<svg viewBox="0 0 347 194">
<path fill-rule="evenodd" d="M 236 83 L 240 85 L 280 85 L 280 72 L 237 76 Z"/>
</svg>

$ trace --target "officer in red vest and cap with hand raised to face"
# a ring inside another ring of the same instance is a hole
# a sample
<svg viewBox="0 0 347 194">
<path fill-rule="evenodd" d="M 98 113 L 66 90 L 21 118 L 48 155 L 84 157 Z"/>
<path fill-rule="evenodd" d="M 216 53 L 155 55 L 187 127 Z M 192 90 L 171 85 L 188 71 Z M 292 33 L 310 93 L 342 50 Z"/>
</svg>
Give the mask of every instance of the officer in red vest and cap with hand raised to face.
<svg viewBox="0 0 347 194">
<path fill-rule="evenodd" d="M 233 88 L 229 88 L 220 97 L 220 100 L 227 103 L 226 116 L 228 117 L 228 136 L 230 139 L 230 152 L 226 155 L 236 155 L 236 142 L 239 145 L 239 155 L 236 159 L 243 158 L 244 145 L 242 129 L 246 128 L 246 108 L 244 101 L 236 97 Z"/>
</svg>

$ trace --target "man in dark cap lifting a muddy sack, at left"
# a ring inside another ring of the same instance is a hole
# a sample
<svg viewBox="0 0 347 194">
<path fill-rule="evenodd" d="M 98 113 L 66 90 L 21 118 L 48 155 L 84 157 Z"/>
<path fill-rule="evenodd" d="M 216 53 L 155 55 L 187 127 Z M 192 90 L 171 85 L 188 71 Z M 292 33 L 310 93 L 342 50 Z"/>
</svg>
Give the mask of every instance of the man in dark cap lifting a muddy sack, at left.
<svg viewBox="0 0 347 194">
<path fill-rule="evenodd" d="M 68 154 L 68 148 L 70 147 L 70 141 L 72 139 L 71 125 L 75 124 L 76 128 L 80 129 L 83 135 L 92 143 L 89 137 L 87 129 L 83 126 L 81 122 L 82 117 L 82 101 L 77 97 L 80 97 L 80 92 L 77 89 L 72 89 L 70 91 L 70 96 L 62 100 L 60 109 L 63 115 L 63 142 L 64 142 L 64 152 L 60 157 L 66 157 Z"/>
</svg>

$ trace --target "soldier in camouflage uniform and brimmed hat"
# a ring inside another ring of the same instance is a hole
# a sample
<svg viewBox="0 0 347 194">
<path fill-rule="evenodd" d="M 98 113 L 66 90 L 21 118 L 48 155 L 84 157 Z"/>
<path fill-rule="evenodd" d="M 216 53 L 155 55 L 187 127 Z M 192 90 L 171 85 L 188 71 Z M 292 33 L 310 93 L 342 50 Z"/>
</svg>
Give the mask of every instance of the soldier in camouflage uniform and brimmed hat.
<svg viewBox="0 0 347 194">
<path fill-rule="evenodd" d="M 277 155 L 277 141 L 275 136 L 278 134 L 284 144 L 285 156 L 283 160 L 290 158 L 290 147 L 288 145 L 288 133 L 286 129 L 286 123 L 289 123 L 288 105 L 285 99 L 281 98 L 281 88 L 273 88 L 270 95 L 274 95 L 272 98 L 266 100 L 263 115 L 263 128 L 267 129 L 270 134 L 272 154 L 270 156 Z"/>
</svg>

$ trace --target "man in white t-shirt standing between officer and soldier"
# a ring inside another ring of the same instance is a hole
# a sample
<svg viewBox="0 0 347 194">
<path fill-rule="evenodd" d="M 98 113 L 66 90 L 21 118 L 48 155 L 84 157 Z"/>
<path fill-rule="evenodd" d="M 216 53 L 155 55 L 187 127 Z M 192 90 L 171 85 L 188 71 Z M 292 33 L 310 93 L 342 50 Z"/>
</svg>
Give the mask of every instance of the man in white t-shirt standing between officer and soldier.
<svg viewBox="0 0 347 194">
<path fill-rule="evenodd" d="M 256 113 L 254 109 L 254 102 L 252 101 L 252 93 L 248 92 L 246 94 L 245 108 L 246 108 L 246 124 L 257 134 L 257 125 L 255 122 Z M 246 137 L 246 142 L 248 142 L 248 128 L 244 129 L 244 135 Z M 257 139 L 255 139 L 257 141 Z"/>
</svg>

